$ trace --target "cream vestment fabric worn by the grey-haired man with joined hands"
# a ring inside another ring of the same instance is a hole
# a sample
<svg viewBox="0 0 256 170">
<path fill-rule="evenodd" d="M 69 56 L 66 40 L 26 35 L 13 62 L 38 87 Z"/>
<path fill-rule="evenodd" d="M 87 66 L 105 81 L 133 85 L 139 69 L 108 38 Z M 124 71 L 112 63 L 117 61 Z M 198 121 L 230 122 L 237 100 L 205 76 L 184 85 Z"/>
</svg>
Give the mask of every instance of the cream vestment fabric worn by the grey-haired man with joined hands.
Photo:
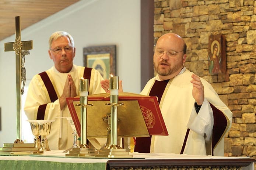
<svg viewBox="0 0 256 170">
<path fill-rule="evenodd" d="M 67 79 L 67 75 L 70 74 L 76 84 L 76 93 L 79 92 L 79 79 L 83 77 L 84 67 L 73 65 L 73 68 L 69 73 L 60 73 L 53 66 L 46 71 L 50 81 L 53 84 L 54 90 L 59 98 L 64 89 L 64 84 Z M 89 94 L 104 93 L 105 91 L 101 88 L 100 82 L 103 80 L 100 73 L 92 69 L 90 78 Z M 51 95 L 51 94 L 50 94 Z M 67 119 L 61 119 L 58 117 L 71 117 L 69 109 L 65 106 L 62 111 L 60 110 L 59 99 L 51 101 L 49 93 L 45 87 L 45 84 L 40 75 L 35 75 L 28 88 L 27 99 L 25 102 L 24 111 L 28 119 L 36 120 L 38 108 L 45 105 L 45 120 L 54 120 L 50 130 L 50 134 L 47 136 L 49 148 L 53 150 L 64 150 L 73 146 L 73 130 Z"/>
</svg>

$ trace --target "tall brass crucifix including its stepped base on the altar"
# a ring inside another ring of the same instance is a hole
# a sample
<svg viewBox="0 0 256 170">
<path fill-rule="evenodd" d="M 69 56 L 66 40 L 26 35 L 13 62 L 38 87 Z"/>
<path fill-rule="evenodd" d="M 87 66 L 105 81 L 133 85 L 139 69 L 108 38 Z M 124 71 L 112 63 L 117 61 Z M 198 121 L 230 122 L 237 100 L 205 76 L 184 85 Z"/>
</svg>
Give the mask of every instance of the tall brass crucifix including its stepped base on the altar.
<svg viewBox="0 0 256 170">
<path fill-rule="evenodd" d="M 21 41 L 20 17 L 15 17 L 15 41 L 4 43 L 4 51 L 15 52 L 16 63 L 16 140 L 13 144 L 4 143 L 3 148 L 0 148 L 0 155 L 32 155 L 42 154 L 43 151 L 38 151 L 34 143 L 27 143 L 21 140 L 21 95 L 24 92 L 26 81 L 25 72 L 25 55 L 29 54 L 28 50 L 32 50 L 33 41 Z M 21 83 L 23 86 L 21 88 Z"/>
</svg>

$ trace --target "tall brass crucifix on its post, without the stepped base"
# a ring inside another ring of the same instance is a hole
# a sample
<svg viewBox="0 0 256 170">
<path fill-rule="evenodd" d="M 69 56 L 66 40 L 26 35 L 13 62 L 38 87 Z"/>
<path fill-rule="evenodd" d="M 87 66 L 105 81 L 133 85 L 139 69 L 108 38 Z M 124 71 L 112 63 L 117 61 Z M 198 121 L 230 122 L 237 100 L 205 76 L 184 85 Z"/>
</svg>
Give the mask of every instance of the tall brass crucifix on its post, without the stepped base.
<svg viewBox="0 0 256 170">
<path fill-rule="evenodd" d="M 17 131 L 14 143 L 23 143 L 21 140 L 21 94 L 25 85 L 25 55 L 29 54 L 28 50 L 33 49 L 33 41 L 21 41 L 20 16 L 15 17 L 15 41 L 4 43 L 4 51 L 15 51 L 16 54 L 16 105 L 17 105 Z M 23 87 L 21 88 L 21 82 Z"/>
</svg>

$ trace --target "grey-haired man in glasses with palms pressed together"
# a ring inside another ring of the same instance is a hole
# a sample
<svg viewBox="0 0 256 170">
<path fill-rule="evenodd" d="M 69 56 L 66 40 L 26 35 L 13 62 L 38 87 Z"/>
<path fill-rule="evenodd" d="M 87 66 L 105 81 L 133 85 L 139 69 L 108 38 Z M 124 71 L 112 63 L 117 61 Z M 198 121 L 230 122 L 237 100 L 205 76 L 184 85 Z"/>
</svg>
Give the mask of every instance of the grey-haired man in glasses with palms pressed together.
<svg viewBox="0 0 256 170">
<path fill-rule="evenodd" d="M 24 111 L 28 119 L 55 120 L 47 136 L 49 148 L 64 150 L 73 146 L 73 130 L 67 119 L 71 117 L 66 104 L 67 97 L 79 93 L 79 79 L 89 80 L 89 94 L 104 93 L 100 73 L 91 68 L 73 64 L 76 48 L 74 40 L 67 32 L 55 32 L 49 39 L 49 56 L 54 66 L 35 75 L 28 87 Z"/>
</svg>

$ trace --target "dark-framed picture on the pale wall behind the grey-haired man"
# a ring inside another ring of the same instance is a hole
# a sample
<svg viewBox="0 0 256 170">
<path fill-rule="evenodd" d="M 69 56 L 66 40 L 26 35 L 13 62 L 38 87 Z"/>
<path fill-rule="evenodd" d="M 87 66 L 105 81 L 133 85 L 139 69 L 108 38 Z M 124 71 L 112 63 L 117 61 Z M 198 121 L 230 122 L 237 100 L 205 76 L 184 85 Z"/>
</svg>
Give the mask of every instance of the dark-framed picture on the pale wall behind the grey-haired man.
<svg viewBox="0 0 256 170">
<path fill-rule="evenodd" d="M 84 47 L 83 50 L 85 67 L 98 70 L 104 79 L 109 79 L 109 74 L 116 76 L 115 45 Z"/>
</svg>

